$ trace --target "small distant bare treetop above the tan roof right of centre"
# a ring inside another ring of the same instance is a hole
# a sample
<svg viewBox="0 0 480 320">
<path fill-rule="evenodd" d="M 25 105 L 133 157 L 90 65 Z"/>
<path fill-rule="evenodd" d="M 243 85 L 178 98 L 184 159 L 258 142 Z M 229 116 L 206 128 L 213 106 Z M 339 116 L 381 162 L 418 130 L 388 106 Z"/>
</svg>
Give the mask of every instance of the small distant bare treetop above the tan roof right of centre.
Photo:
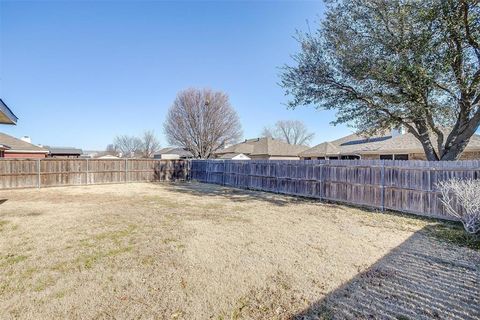
<svg viewBox="0 0 480 320">
<path fill-rule="evenodd" d="M 308 145 L 315 133 L 309 132 L 302 121 L 284 120 L 277 121 L 273 128 L 263 128 L 262 136 L 279 139 L 289 144 Z"/>
</svg>

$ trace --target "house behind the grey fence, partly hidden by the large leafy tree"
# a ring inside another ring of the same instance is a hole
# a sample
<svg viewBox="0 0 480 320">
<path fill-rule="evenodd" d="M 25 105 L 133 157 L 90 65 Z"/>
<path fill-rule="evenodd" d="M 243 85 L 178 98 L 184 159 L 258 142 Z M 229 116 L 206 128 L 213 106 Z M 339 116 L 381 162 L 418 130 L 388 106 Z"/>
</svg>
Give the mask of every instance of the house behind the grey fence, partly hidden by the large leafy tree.
<svg viewBox="0 0 480 320">
<path fill-rule="evenodd" d="M 435 145 L 435 141 L 433 141 Z M 351 134 L 323 142 L 300 153 L 303 160 L 366 159 L 426 160 L 422 144 L 411 133 L 392 130 L 389 135 L 363 137 Z M 461 160 L 480 159 L 480 135 L 473 135 Z"/>
</svg>

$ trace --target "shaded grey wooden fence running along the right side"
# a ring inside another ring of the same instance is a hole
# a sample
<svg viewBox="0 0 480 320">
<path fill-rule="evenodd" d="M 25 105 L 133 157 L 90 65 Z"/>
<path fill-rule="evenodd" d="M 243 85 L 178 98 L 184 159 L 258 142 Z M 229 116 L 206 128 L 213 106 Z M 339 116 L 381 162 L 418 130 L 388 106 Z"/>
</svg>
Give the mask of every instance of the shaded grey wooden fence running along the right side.
<svg viewBox="0 0 480 320">
<path fill-rule="evenodd" d="M 436 183 L 478 179 L 480 161 L 193 160 L 190 175 L 199 182 L 446 218 Z"/>
</svg>

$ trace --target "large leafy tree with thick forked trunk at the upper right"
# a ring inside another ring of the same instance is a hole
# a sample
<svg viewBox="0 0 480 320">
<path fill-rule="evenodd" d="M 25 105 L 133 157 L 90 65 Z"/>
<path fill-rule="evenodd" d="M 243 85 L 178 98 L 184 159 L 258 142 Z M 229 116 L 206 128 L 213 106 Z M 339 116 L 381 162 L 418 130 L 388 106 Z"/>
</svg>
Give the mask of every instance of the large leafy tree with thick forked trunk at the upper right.
<svg viewBox="0 0 480 320">
<path fill-rule="evenodd" d="M 404 126 L 428 160 L 458 159 L 480 125 L 480 0 L 327 2 L 283 68 L 289 106 L 368 134 Z"/>
</svg>

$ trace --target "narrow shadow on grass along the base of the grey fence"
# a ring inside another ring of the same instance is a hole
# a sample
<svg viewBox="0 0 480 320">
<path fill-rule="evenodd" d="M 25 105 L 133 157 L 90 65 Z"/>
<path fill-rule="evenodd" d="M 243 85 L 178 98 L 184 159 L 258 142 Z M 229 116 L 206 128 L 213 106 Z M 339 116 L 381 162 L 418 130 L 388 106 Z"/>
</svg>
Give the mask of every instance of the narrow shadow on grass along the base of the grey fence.
<svg viewBox="0 0 480 320">
<path fill-rule="evenodd" d="M 315 199 L 307 199 L 301 197 L 294 197 L 289 195 L 279 195 L 270 192 L 262 192 L 256 190 L 237 189 L 232 187 L 224 187 L 216 184 L 196 183 L 196 182 L 175 182 L 171 184 L 170 191 L 187 193 L 199 197 L 223 197 L 225 200 L 233 202 L 251 202 L 251 201 L 266 201 L 269 204 L 276 206 L 285 206 L 292 203 L 306 203 L 316 202 Z M 337 208 L 333 203 L 323 203 L 327 206 Z"/>
</svg>

